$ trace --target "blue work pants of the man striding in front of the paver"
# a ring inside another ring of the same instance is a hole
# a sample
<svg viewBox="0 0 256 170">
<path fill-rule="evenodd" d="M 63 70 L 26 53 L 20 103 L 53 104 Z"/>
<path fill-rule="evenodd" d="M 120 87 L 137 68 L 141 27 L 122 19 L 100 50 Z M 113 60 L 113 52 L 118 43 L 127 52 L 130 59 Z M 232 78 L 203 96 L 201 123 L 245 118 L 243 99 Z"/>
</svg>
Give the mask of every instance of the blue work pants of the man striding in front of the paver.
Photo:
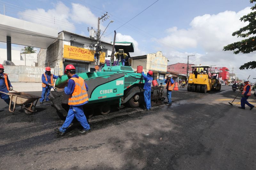
<svg viewBox="0 0 256 170">
<path fill-rule="evenodd" d="M 64 124 L 60 127 L 60 132 L 65 132 L 67 130 L 68 126 L 71 124 L 75 116 L 77 121 L 80 122 L 80 124 L 83 126 L 84 130 L 91 129 L 84 115 L 83 106 L 70 106 L 66 120 Z"/>
</svg>

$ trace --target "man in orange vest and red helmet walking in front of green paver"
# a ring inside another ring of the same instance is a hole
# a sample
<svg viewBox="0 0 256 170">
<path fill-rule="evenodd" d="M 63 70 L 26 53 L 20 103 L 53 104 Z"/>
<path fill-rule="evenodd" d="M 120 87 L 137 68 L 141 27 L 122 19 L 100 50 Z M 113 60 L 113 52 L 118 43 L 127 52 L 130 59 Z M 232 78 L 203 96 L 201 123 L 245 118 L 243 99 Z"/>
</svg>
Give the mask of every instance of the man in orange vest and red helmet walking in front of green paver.
<svg viewBox="0 0 256 170">
<path fill-rule="evenodd" d="M 76 116 L 76 120 L 80 122 L 83 126 L 82 130 L 79 130 L 80 133 L 87 133 L 91 131 L 90 125 L 87 122 L 87 119 L 84 115 L 83 105 L 88 103 L 88 86 L 84 82 L 84 79 L 79 77 L 76 74 L 76 68 L 68 64 L 65 68 L 65 74 L 68 76 L 68 86 L 64 88 L 64 91 L 67 95 L 69 95 L 68 99 L 68 115 L 64 124 L 55 129 L 56 133 L 63 136 L 68 128 L 68 126 L 73 121 Z"/>
</svg>

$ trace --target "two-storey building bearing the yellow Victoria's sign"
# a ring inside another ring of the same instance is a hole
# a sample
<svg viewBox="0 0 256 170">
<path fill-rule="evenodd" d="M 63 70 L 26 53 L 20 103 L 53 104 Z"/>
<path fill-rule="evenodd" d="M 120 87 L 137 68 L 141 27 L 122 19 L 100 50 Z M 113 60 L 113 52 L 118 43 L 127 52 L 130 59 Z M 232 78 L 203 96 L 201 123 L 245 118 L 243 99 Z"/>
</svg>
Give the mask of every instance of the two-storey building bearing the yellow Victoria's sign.
<svg viewBox="0 0 256 170">
<path fill-rule="evenodd" d="M 56 39 L 47 49 L 40 50 L 38 54 L 38 66 L 49 66 L 58 70 L 59 75 L 64 74 L 65 67 L 72 64 L 76 72 L 95 71 L 94 50 L 97 44 L 94 38 L 82 36 L 67 31 L 58 33 Z M 110 60 L 112 45 L 101 41 L 102 53 L 98 63 L 103 65 L 105 60 Z M 101 66 L 99 71 L 101 70 Z"/>
</svg>

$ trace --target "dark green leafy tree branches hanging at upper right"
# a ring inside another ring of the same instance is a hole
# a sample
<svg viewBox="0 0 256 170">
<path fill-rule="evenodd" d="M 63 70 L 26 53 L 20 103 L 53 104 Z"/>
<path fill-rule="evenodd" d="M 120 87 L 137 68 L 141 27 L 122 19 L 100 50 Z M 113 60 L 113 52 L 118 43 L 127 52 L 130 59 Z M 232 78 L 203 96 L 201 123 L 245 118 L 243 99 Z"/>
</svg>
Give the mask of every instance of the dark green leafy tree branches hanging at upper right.
<svg viewBox="0 0 256 170">
<path fill-rule="evenodd" d="M 250 0 L 250 3 L 256 2 L 256 0 Z M 256 50 L 256 4 L 251 8 L 252 12 L 244 15 L 240 18 L 241 22 L 249 22 L 247 26 L 240 28 L 238 31 L 232 33 L 232 36 L 247 38 L 242 41 L 228 44 L 223 48 L 224 51 L 234 51 L 234 54 L 244 53 L 248 54 Z M 250 36 L 250 37 L 249 37 Z M 245 63 L 240 66 L 240 70 L 244 69 L 255 69 L 256 61 Z"/>
</svg>

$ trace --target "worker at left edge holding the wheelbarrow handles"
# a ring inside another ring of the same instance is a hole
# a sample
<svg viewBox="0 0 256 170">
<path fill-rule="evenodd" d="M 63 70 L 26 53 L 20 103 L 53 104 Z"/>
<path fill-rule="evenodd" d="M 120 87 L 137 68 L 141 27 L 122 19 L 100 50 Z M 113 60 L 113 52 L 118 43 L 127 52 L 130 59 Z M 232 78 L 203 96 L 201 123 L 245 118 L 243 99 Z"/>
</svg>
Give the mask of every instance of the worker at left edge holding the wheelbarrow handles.
<svg viewBox="0 0 256 170">
<path fill-rule="evenodd" d="M 11 85 L 11 82 L 7 76 L 7 74 L 4 73 L 4 66 L 0 64 L 0 92 L 8 93 L 9 90 L 12 90 L 13 87 Z M 0 93 L 0 98 L 3 99 L 8 105 L 10 104 L 10 97 L 7 94 Z M 11 107 L 13 105 L 11 104 Z"/>
</svg>

